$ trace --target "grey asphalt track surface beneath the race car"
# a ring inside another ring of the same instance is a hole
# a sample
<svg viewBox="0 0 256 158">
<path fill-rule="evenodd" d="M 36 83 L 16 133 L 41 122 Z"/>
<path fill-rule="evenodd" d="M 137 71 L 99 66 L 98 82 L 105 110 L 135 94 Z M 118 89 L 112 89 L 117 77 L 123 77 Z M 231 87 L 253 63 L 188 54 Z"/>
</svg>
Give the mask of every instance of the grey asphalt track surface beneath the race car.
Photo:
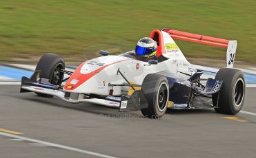
<svg viewBox="0 0 256 158">
<path fill-rule="evenodd" d="M 255 158 L 255 97 L 248 88 L 242 110 L 251 114 L 168 110 L 161 120 L 148 120 L 140 112 L 68 104 L 0 85 L 0 157 Z"/>
</svg>

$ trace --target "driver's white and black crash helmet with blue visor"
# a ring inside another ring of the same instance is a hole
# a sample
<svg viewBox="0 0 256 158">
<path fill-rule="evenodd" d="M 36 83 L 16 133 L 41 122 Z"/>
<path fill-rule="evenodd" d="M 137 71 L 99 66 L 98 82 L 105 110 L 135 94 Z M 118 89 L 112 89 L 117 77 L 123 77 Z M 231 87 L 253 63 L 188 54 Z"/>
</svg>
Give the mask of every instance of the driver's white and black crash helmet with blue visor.
<svg viewBox="0 0 256 158">
<path fill-rule="evenodd" d="M 135 47 L 135 54 L 138 56 L 154 56 L 157 53 L 157 42 L 152 38 L 141 38 Z"/>
</svg>

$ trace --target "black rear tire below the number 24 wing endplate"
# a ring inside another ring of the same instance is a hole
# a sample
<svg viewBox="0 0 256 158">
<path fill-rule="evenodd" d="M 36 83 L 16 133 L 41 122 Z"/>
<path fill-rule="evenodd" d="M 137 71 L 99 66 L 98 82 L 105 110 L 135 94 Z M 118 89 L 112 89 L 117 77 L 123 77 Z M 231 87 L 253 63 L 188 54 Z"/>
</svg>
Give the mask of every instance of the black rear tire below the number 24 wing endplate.
<svg viewBox="0 0 256 158">
<path fill-rule="evenodd" d="M 238 69 L 220 69 L 215 76 L 216 80 L 222 80 L 222 86 L 219 93 L 219 102 L 217 94 L 213 95 L 213 105 L 217 106 L 217 113 L 235 115 L 239 113 L 244 105 L 244 96 L 246 84 L 244 74 Z"/>
</svg>

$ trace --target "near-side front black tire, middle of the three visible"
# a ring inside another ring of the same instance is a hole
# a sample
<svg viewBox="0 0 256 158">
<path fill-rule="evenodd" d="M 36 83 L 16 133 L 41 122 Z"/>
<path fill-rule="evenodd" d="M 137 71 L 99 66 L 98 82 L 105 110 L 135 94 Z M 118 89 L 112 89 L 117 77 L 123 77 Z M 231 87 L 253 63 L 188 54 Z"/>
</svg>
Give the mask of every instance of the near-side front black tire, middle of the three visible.
<svg viewBox="0 0 256 158">
<path fill-rule="evenodd" d="M 169 84 L 166 77 L 159 74 L 148 74 L 141 86 L 141 95 L 148 102 L 147 109 L 141 109 L 144 117 L 160 118 L 166 113 L 169 101 Z M 141 99 L 141 104 L 144 104 Z"/>
</svg>

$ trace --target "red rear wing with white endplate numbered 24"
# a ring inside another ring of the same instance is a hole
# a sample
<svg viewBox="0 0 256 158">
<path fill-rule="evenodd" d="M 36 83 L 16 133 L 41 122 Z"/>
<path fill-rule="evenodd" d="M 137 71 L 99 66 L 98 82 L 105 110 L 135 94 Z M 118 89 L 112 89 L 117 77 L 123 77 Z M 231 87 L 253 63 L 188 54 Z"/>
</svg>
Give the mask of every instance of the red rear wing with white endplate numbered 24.
<svg viewBox="0 0 256 158">
<path fill-rule="evenodd" d="M 230 41 L 222 38 L 215 38 L 211 36 L 204 36 L 200 34 L 192 34 L 188 32 L 181 32 L 178 30 L 163 29 L 164 32 L 170 34 L 172 38 L 190 41 L 194 43 L 201 43 L 204 45 L 213 45 L 215 47 L 225 47 L 226 51 L 226 67 L 233 68 L 235 62 L 235 52 L 237 50 L 237 41 Z"/>
</svg>

